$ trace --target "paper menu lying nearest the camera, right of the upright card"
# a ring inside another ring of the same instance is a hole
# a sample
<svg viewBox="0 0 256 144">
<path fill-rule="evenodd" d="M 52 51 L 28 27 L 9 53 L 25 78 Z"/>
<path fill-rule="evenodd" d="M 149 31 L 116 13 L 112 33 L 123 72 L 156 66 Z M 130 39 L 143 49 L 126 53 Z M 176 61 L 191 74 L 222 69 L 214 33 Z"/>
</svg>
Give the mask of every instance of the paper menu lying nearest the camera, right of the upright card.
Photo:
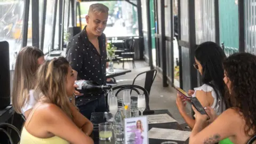
<svg viewBox="0 0 256 144">
<path fill-rule="evenodd" d="M 148 131 L 148 138 L 150 139 L 163 139 L 163 140 L 178 140 L 186 141 L 191 132 L 180 131 L 173 129 L 159 129 L 153 127 Z"/>
</svg>

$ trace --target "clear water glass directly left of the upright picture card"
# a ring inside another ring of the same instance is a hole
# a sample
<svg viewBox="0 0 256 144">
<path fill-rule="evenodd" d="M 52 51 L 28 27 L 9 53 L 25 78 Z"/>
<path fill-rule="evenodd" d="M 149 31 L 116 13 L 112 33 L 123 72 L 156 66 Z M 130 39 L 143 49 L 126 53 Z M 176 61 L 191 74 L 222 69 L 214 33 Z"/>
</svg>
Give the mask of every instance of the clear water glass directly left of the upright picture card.
<svg viewBox="0 0 256 144">
<path fill-rule="evenodd" d="M 114 138 L 116 144 L 124 142 L 124 127 L 122 125 L 113 125 Z"/>
</svg>

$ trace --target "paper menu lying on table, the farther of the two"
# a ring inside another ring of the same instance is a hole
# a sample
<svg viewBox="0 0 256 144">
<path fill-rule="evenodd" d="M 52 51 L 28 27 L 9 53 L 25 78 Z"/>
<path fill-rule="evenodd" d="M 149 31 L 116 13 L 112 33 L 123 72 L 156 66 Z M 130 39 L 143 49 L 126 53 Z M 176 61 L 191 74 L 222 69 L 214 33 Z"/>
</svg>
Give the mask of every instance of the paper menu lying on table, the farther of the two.
<svg viewBox="0 0 256 144">
<path fill-rule="evenodd" d="M 174 118 L 170 117 L 168 114 L 148 115 L 147 117 L 148 117 L 148 124 L 177 122 Z"/>
</svg>

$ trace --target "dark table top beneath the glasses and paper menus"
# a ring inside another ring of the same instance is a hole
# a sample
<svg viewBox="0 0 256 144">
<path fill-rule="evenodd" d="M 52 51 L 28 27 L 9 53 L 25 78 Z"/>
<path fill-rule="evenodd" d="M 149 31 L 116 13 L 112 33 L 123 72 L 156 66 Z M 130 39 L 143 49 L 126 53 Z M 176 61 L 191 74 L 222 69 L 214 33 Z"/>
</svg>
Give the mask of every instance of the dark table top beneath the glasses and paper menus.
<svg viewBox="0 0 256 144">
<path fill-rule="evenodd" d="M 168 111 L 168 110 L 154 110 L 154 115 L 157 115 L 157 114 L 168 114 L 172 117 L 171 113 Z M 105 122 L 105 119 L 104 119 L 104 115 L 106 115 L 107 113 L 92 113 L 92 116 L 91 116 L 91 122 L 93 124 L 98 124 L 98 123 L 102 123 L 102 122 Z M 177 122 L 173 122 L 173 123 L 161 123 L 161 124 L 149 124 L 148 125 L 148 130 L 150 130 L 151 128 L 153 127 L 157 127 L 157 128 L 162 128 L 162 129 L 174 129 L 174 130 L 182 130 L 181 126 L 177 123 Z M 94 140 L 94 143 L 95 144 L 101 144 L 101 143 L 106 143 L 106 144 L 114 144 L 115 143 L 115 140 L 113 138 L 113 140 L 111 141 L 101 141 L 99 140 L 99 131 L 98 129 L 95 129 L 93 130 L 93 140 Z M 160 144 L 161 142 L 164 142 L 164 141 L 174 141 L 174 140 L 161 140 L 161 139 L 149 139 L 149 144 Z M 177 142 L 178 144 L 181 144 L 181 143 L 188 143 L 188 140 L 187 141 L 175 141 Z"/>
</svg>

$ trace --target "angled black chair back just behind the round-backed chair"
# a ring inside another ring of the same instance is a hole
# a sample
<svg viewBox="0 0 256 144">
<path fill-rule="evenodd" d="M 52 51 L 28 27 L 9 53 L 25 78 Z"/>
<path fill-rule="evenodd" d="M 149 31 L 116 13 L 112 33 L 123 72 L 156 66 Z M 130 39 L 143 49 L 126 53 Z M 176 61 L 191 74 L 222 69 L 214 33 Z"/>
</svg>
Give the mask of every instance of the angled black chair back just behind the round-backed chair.
<svg viewBox="0 0 256 144">
<path fill-rule="evenodd" d="M 135 80 L 137 79 L 137 77 L 142 75 L 142 74 L 146 74 L 144 88 L 148 91 L 148 95 L 149 95 L 150 94 L 150 90 L 151 90 L 151 86 L 152 86 L 152 84 L 153 84 L 153 82 L 154 82 L 154 80 L 156 78 L 157 70 L 152 69 L 152 70 L 144 71 L 144 72 L 138 74 L 133 79 L 132 85 L 134 85 Z M 131 93 L 132 93 L 132 91 L 131 91 Z"/>
</svg>

